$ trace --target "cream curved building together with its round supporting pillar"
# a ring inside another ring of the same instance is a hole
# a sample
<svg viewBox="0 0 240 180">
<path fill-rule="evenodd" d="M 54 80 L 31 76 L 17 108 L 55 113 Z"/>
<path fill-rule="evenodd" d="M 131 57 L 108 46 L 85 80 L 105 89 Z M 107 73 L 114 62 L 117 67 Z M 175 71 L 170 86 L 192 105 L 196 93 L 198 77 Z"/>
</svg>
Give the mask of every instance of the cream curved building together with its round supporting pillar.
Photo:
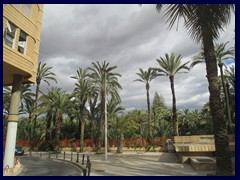
<svg viewBox="0 0 240 180">
<path fill-rule="evenodd" d="M 4 169 L 10 172 L 15 167 L 21 86 L 36 81 L 42 16 L 41 4 L 3 4 L 3 85 L 12 86 Z"/>
</svg>

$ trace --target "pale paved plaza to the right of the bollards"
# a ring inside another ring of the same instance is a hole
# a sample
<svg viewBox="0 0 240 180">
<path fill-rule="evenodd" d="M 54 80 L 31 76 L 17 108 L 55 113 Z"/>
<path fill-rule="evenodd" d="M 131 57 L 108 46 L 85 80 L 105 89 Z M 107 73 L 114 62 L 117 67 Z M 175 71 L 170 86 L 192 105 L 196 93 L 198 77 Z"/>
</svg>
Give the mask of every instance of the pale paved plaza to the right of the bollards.
<svg viewBox="0 0 240 180">
<path fill-rule="evenodd" d="M 214 171 L 196 171 L 179 162 L 175 153 L 86 154 L 92 162 L 91 176 L 206 176 Z"/>
</svg>

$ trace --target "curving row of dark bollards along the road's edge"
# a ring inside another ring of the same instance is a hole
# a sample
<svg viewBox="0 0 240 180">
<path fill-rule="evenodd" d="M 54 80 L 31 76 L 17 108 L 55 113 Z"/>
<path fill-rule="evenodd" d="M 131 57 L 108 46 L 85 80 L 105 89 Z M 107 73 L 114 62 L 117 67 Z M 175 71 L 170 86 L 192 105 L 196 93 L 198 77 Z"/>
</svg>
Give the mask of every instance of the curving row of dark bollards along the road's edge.
<svg viewBox="0 0 240 180">
<path fill-rule="evenodd" d="M 63 153 L 54 153 L 53 151 L 48 152 L 32 152 L 29 151 L 29 157 L 40 157 L 40 158 L 55 158 L 58 160 L 64 160 L 64 161 L 70 161 L 77 165 L 81 171 L 83 172 L 83 176 L 90 176 L 91 173 L 91 166 L 92 163 L 90 161 L 90 157 L 87 156 L 86 162 L 85 162 L 85 154 L 80 154 L 79 152 L 73 153 L 73 152 L 66 152 Z M 76 155 L 76 156 L 75 156 Z M 80 161 L 80 155 L 82 155 L 82 160 Z M 81 162 L 81 164 L 80 164 Z M 84 165 L 86 164 L 86 165 Z"/>
</svg>

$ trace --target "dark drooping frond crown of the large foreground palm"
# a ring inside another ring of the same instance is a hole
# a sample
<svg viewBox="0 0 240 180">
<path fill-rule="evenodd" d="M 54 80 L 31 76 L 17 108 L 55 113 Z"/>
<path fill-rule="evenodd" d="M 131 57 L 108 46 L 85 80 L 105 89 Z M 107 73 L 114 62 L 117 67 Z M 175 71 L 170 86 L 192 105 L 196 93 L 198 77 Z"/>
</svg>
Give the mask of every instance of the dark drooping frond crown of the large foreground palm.
<svg viewBox="0 0 240 180">
<path fill-rule="evenodd" d="M 162 7 L 166 8 L 165 16 L 169 28 L 183 17 L 188 34 L 196 42 L 201 42 L 204 35 L 217 39 L 219 30 L 223 31 L 223 25 L 230 23 L 230 12 L 234 11 L 233 4 L 157 4 L 157 11 L 160 12 Z M 203 34 L 202 27 L 208 34 Z"/>
</svg>

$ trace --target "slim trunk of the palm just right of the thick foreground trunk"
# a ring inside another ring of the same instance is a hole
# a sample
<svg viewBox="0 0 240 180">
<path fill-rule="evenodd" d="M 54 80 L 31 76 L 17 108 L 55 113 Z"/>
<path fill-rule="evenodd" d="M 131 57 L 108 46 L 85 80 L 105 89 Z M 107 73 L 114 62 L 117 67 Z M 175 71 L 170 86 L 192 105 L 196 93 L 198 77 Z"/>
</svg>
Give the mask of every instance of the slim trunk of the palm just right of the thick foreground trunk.
<svg viewBox="0 0 240 180">
<path fill-rule="evenodd" d="M 220 68 L 220 73 L 221 73 L 221 81 L 222 81 L 222 86 L 223 86 L 223 92 L 224 92 L 224 97 L 225 97 L 225 104 L 226 104 L 226 109 L 227 109 L 227 117 L 228 117 L 228 132 L 231 131 L 231 124 L 232 124 L 232 120 L 231 120 L 231 113 L 230 113 L 230 108 L 229 108 L 229 98 L 228 98 L 228 93 L 225 87 L 225 82 L 223 79 L 223 69 L 222 69 L 223 65 L 220 64 L 219 68 Z"/>
</svg>

